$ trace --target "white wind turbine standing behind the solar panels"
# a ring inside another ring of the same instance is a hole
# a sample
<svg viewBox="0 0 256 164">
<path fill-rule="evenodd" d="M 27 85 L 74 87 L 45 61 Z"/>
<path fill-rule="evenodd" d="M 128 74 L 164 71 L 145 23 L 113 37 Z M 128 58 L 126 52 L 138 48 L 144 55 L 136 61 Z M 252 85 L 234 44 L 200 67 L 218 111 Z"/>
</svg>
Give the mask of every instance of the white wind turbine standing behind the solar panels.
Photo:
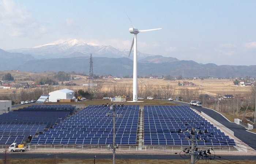
<svg viewBox="0 0 256 164">
<path fill-rule="evenodd" d="M 132 101 L 128 102 L 143 102 L 143 101 L 138 101 L 138 74 L 137 74 L 137 34 L 139 32 L 144 32 L 144 31 L 153 31 L 153 30 L 159 30 L 161 28 L 156 28 L 156 29 L 150 29 L 150 30 L 138 30 L 136 28 L 129 28 L 129 31 L 131 34 L 134 34 L 133 40 L 132 40 L 132 46 L 130 49 L 129 56 L 132 51 L 132 47 L 134 44 L 133 48 L 133 94 L 132 94 Z"/>
</svg>

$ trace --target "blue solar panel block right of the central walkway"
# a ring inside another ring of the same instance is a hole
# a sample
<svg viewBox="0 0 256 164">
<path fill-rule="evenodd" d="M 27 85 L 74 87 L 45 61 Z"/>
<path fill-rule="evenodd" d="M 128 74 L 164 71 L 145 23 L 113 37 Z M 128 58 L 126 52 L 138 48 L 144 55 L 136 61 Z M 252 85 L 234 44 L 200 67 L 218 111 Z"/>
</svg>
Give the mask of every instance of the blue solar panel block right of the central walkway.
<svg viewBox="0 0 256 164">
<path fill-rule="evenodd" d="M 196 127 L 207 142 L 197 142 L 197 145 L 235 146 L 233 139 L 207 122 L 188 106 L 144 106 L 144 145 L 191 145 L 185 137 L 188 132 L 177 133 L 179 129 L 191 130 Z M 204 133 L 207 129 L 208 133 Z M 210 134 L 212 133 L 212 134 Z"/>
</svg>

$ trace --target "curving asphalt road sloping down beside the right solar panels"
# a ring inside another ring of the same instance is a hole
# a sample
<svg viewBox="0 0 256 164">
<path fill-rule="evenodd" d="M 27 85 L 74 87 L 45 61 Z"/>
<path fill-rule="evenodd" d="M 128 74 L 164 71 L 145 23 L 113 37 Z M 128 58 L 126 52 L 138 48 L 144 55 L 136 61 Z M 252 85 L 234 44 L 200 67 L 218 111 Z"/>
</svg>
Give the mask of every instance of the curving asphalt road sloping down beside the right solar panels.
<svg viewBox="0 0 256 164">
<path fill-rule="evenodd" d="M 208 116 L 210 116 L 214 120 L 218 121 L 222 125 L 232 130 L 234 132 L 234 136 L 239 138 L 241 141 L 243 141 L 245 144 L 249 145 L 251 148 L 253 148 L 256 151 L 256 134 L 247 132 L 243 126 L 237 125 L 234 122 L 227 121 L 226 118 L 224 118 L 221 114 L 215 112 L 212 109 L 191 106 L 188 103 L 180 102 L 180 101 L 175 101 L 175 103 L 180 105 L 190 106 L 191 108 L 196 109 L 198 112 L 206 113 Z"/>
</svg>

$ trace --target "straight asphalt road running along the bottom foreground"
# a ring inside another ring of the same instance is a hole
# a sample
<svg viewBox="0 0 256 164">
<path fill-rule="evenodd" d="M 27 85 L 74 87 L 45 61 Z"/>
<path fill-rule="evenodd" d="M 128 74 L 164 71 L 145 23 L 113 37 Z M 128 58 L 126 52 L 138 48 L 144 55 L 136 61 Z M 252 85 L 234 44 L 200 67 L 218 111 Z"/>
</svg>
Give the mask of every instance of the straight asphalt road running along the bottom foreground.
<svg viewBox="0 0 256 164">
<path fill-rule="evenodd" d="M 55 156 L 56 155 L 56 156 Z M 8 153 L 9 159 L 112 159 L 113 154 L 46 154 L 46 153 Z M 4 153 L 0 153 L 0 158 L 4 158 Z M 116 154 L 116 159 L 163 159 L 163 160 L 183 160 L 180 155 L 136 155 L 136 154 Z M 189 158 L 188 158 L 189 159 Z M 215 160 L 220 159 L 215 156 Z M 221 160 L 256 160 L 255 156 L 221 156 Z"/>
</svg>

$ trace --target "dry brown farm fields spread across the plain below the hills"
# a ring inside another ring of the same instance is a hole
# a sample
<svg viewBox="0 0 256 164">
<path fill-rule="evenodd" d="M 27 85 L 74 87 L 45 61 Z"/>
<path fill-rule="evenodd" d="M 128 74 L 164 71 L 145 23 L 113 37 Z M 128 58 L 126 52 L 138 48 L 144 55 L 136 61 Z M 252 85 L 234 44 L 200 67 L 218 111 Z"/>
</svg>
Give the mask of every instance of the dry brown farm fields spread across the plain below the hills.
<svg viewBox="0 0 256 164">
<path fill-rule="evenodd" d="M 29 72 L 13 72 L 13 71 L 0 71 L 0 77 L 4 74 L 11 73 L 14 76 L 15 81 L 11 84 L 18 84 L 20 82 L 29 82 L 32 81 L 23 81 L 23 79 L 28 77 L 33 77 L 35 79 L 39 77 L 49 77 L 53 79 L 53 72 L 44 72 L 44 73 L 29 73 Z M 84 89 L 87 90 L 88 86 L 83 86 L 83 84 L 88 84 L 89 80 L 86 79 L 85 76 L 81 75 L 72 75 L 76 77 L 81 77 L 82 79 L 74 80 L 72 82 L 78 84 L 79 86 L 53 86 L 52 90 L 59 90 L 59 89 L 71 89 L 71 90 L 79 90 Z M 54 79 L 55 80 L 55 79 Z M 192 89 L 192 90 L 199 90 L 200 94 L 210 94 L 211 96 L 216 97 L 219 93 L 221 95 L 224 94 L 240 94 L 245 95 L 251 91 L 251 87 L 242 87 L 242 86 L 233 86 L 234 79 L 196 79 L 196 80 L 176 80 L 176 81 L 167 81 L 163 79 L 138 79 L 138 93 L 144 92 L 145 90 L 154 91 L 155 88 L 166 88 L 172 87 L 172 95 L 178 96 L 180 89 Z M 197 86 L 178 86 L 178 82 L 183 83 L 183 81 L 193 82 Z M 59 82 L 61 83 L 61 82 Z M 132 94 L 132 78 L 129 79 L 95 79 L 94 83 L 98 85 L 97 88 L 101 88 L 101 91 L 108 92 L 113 90 L 114 87 L 123 87 L 129 93 L 123 94 Z M 20 93 L 22 89 L 3 89 L 0 88 L 0 96 L 11 94 L 13 91 L 16 93 Z M 27 89 L 28 91 L 33 91 L 34 89 Z M 141 92 L 140 92 L 141 91 Z M 140 95 L 139 95 L 140 96 Z"/>
</svg>

